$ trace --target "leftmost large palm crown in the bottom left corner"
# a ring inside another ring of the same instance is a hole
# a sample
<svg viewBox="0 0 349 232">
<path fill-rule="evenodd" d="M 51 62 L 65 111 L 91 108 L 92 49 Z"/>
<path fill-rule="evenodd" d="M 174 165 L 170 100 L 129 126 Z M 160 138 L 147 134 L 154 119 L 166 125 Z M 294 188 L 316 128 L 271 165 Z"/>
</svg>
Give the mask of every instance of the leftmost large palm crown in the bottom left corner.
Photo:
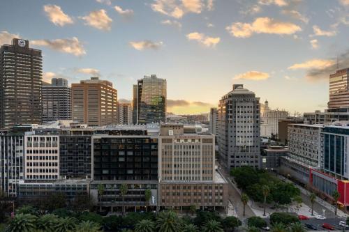
<svg viewBox="0 0 349 232">
<path fill-rule="evenodd" d="M 29 214 L 18 214 L 13 218 L 10 223 L 8 224 L 8 227 L 6 231 L 8 232 L 31 232 L 36 229 L 36 216 L 29 215 Z"/>
</svg>

